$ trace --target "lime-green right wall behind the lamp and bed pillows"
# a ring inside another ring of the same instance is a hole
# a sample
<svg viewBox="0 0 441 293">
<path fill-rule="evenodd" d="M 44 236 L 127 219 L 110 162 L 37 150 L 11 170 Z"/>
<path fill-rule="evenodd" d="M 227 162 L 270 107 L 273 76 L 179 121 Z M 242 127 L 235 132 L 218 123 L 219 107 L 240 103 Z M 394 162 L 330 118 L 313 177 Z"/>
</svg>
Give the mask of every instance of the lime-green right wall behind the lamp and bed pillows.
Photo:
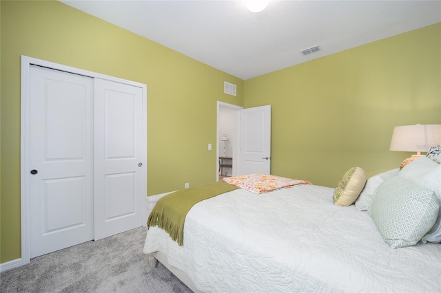
<svg viewBox="0 0 441 293">
<path fill-rule="evenodd" d="M 326 50 L 326 47 L 323 48 Z M 271 173 L 335 187 L 351 166 L 373 175 L 393 127 L 441 124 L 441 23 L 245 81 L 245 107 L 272 105 Z"/>
</svg>

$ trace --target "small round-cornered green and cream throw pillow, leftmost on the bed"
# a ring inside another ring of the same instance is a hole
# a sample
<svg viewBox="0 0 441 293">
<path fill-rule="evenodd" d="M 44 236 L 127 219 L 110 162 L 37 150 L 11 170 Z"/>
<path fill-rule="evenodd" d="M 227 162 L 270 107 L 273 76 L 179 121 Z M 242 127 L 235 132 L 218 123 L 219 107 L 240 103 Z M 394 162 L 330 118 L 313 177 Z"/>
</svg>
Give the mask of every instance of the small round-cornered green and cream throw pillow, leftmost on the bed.
<svg viewBox="0 0 441 293">
<path fill-rule="evenodd" d="M 334 190 L 334 196 L 332 197 L 334 204 L 350 206 L 356 201 L 365 184 L 365 170 L 360 167 L 352 167 L 343 175 L 342 180 L 338 182 L 338 186 Z"/>
</svg>

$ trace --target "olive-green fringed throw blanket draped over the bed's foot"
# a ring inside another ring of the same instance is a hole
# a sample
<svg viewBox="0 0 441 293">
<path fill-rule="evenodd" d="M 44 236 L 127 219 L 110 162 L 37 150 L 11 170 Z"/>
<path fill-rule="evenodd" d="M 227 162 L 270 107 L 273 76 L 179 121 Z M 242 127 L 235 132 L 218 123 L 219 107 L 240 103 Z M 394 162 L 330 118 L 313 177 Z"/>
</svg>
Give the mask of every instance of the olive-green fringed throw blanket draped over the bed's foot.
<svg viewBox="0 0 441 293">
<path fill-rule="evenodd" d="M 237 188 L 237 186 L 218 181 L 165 195 L 165 197 L 158 200 L 150 213 L 147 220 L 147 229 L 150 226 L 158 226 L 158 228 L 167 231 L 170 237 L 178 242 L 179 246 L 182 246 L 184 241 L 184 221 L 190 208 L 204 199 L 215 197 Z"/>
</svg>

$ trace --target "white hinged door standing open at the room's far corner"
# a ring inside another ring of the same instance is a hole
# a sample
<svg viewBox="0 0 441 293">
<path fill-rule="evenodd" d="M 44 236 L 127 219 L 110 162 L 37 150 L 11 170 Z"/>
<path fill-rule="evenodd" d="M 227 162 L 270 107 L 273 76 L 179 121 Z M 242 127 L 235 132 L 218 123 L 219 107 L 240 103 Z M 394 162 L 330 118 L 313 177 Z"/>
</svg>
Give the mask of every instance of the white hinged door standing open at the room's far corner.
<svg viewBox="0 0 441 293">
<path fill-rule="evenodd" d="M 271 172 L 271 105 L 240 110 L 238 175 Z"/>
</svg>

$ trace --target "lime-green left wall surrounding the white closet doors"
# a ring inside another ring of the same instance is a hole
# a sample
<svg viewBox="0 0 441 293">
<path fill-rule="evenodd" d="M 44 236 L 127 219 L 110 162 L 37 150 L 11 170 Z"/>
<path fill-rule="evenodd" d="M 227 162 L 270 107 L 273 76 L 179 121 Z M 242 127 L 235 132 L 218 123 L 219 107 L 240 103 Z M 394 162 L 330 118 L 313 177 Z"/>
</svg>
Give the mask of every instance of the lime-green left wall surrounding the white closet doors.
<svg viewBox="0 0 441 293">
<path fill-rule="evenodd" d="M 1 263 L 21 254 L 21 55 L 147 85 L 149 195 L 216 180 L 216 102 L 243 105 L 243 80 L 63 3 L 0 6 Z M 224 80 L 237 97 L 223 94 Z"/>
</svg>

